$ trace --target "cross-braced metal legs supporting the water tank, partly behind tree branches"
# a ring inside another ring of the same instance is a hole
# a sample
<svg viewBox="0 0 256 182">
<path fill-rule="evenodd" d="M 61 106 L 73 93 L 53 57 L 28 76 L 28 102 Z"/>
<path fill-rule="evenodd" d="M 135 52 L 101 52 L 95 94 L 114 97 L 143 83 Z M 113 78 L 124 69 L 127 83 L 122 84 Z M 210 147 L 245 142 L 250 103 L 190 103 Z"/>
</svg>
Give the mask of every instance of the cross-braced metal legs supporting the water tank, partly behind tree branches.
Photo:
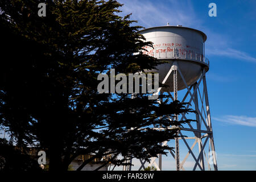
<svg viewBox="0 0 256 182">
<path fill-rule="evenodd" d="M 216 153 L 215 153 L 215 147 L 213 142 L 213 131 L 212 131 L 212 123 L 210 118 L 210 109 L 209 109 L 209 101 L 208 101 L 208 93 L 207 93 L 207 82 L 205 78 L 205 69 L 202 67 L 202 74 L 197 82 L 195 84 L 188 86 L 187 82 L 185 82 L 184 76 L 181 73 L 179 66 L 177 64 L 177 61 L 174 61 L 172 64 L 172 67 L 170 68 L 170 71 L 168 71 L 166 77 L 163 80 L 163 84 L 166 82 L 167 78 L 170 77 L 171 73 L 174 74 L 174 97 L 172 97 L 172 94 L 170 92 L 167 92 L 170 96 L 172 101 L 177 100 L 177 75 L 179 73 L 179 76 L 182 78 L 186 88 L 187 93 L 181 100 L 181 102 L 185 102 L 186 99 L 188 99 L 188 104 L 186 106 L 186 109 L 189 108 L 191 104 L 195 106 L 193 108 L 196 110 L 196 126 L 193 125 L 193 123 L 187 123 L 184 127 L 179 127 L 178 133 L 180 136 L 183 135 L 184 132 L 188 132 L 192 135 L 192 137 L 179 137 L 175 138 L 175 148 L 176 152 L 170 151 L 170 154 L 176 161 L 176 170 L 183 170 L 185 171 L 185 163 L 188 159 L 188 156 L 191 155 L 193 161 L 195 162 L 193 166 L 193 171 L 196 169 L 200 169 L 202 171 L 207 170 L 205 169 L 205 163 L 208 166 L 208 170 L 215 170 L 217 171 L 217 160 L 216 160 Z M 200 91 L 200 84 L 203 86 L 203 91 Z M 156 94 L 161 94 L 160 90 L 162 88 L 158 89 L 158 92 Z M 193 91 L 193 92 L 192 92 Z M 161 101 L 159 101 L 161 102 Z M 186 101 L 187 102 L 187 101 Z M 199 107 L 199 103 L 201 104 L 201 108 Z M 175 116 L 173 119 L 178 119 L 177 116 Z M 183 119 L 187 119 L 187 114 L 183 113 L 181 114 L 181 118 L 179 121 L 182 121 Z M 178 121 L 178 120 L 177 120 Z M 163 128 L 154 128 L 158 130 L 162 130 Z M 170 126 L 169 129 L 177 129 L 177 126 Z M 189 146 L 188 140 L 192 139 L 194 140 L 192 146 Z M 180 141 L 179 141 L 180 140 Z M 187 147 L 187 155 L 184 156 L 182 160 L 180 160 L 180 144 L 185 144 Z M 206 145 L 209 144 L 208 148 L 208 155 L 206 154 Z M 167 141 L 163 142 L 162 145 L 167 145 Z M 195 145 L 198 145 L 198 151 L 195 151 Z M 151 158 L 150 164 L 148 164 L 149 167 L 154 165 L 154 167 L 160 171 L 162 170 L 162 155 L 159 155 L 159 164 L 156 163 L 156 157 Z M 139 159 L 141 162 L 141 167 L 139 167 L 139 171 L 141 169 L 145 169 L 146 161 L 143 161 Z M 180 163 L 181 161 L 181 163 Z M 124 170 L 131 170 L 131 167 L 124 168 Z"/>
</svg>

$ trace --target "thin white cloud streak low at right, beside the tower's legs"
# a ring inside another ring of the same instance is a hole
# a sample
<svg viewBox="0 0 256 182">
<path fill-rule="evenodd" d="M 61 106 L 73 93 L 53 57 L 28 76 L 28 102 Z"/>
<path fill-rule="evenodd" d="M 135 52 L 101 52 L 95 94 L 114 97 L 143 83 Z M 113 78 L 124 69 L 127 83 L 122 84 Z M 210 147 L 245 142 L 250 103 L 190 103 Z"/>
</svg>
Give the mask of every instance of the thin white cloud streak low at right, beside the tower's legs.
<svg viewBox="0 0 256 182">
<path fill-rule="evenodd" d="M 256 118 L 247 117 L 245 115 L 224 115 L 220 118 L 213 117 L 216 121 L 226 122 L 233 125 L 243 125 L 256 127 Z"/>
</svg>

